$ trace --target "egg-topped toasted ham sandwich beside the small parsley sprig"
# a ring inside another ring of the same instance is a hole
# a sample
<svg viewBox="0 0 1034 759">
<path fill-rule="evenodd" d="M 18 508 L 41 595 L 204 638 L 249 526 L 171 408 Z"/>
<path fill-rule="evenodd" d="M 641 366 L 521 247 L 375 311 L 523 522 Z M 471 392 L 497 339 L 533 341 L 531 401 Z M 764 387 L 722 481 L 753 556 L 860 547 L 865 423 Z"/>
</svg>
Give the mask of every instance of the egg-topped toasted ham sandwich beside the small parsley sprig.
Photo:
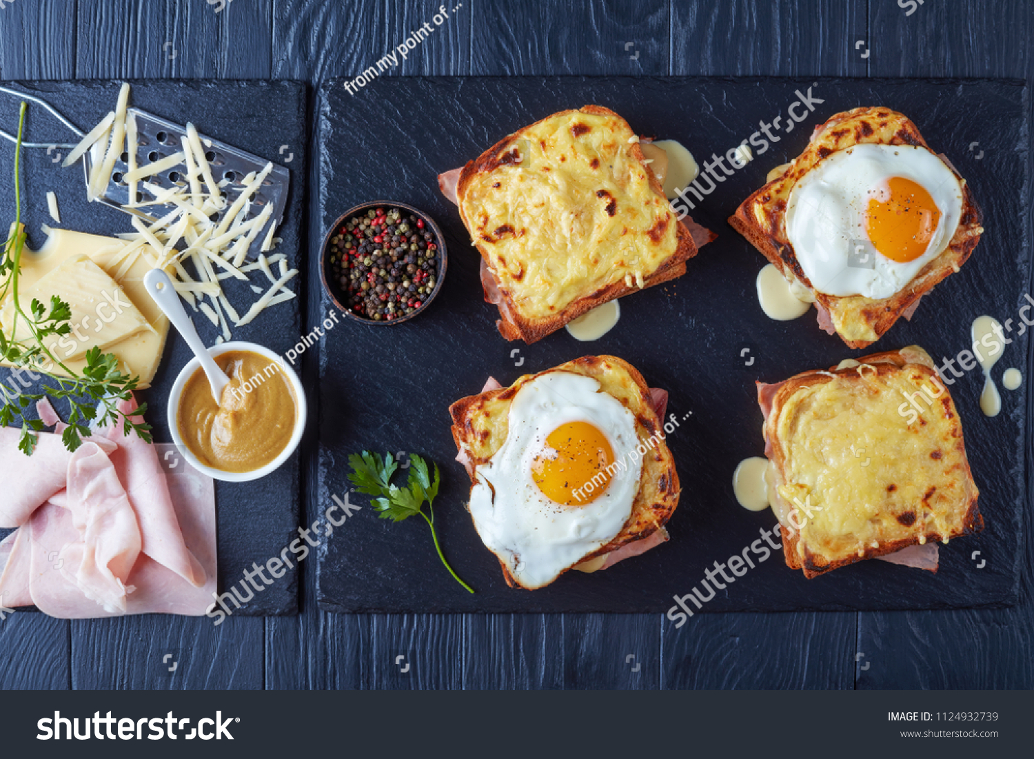
<svg viewBox="0 0 1034 759">
<path fill-rule="evenodd" d="M 470 516 L 512 587 L 595 572 L 668 540 L 678 475 L 667 393 L 613 356 L 490 379 L 450 406 Z"/>
</svg>

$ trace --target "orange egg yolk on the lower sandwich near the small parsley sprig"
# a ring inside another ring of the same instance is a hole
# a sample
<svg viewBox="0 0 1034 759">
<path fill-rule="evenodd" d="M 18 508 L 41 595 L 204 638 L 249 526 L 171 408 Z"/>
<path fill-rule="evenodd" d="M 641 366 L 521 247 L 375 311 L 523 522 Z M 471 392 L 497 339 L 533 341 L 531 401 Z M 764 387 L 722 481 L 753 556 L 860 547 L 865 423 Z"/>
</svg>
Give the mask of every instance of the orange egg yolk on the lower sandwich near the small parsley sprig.
<svg viewBox="0 0 1034 759">
<path fill-rule="evenodd" d="M 613 462 L 614 451 L 603 432 L 587 422 L 570 422 L 546 437 L 531 464 L 531 478 L 550 500 L 582 506 L 607 489 Z"/>
</svg>

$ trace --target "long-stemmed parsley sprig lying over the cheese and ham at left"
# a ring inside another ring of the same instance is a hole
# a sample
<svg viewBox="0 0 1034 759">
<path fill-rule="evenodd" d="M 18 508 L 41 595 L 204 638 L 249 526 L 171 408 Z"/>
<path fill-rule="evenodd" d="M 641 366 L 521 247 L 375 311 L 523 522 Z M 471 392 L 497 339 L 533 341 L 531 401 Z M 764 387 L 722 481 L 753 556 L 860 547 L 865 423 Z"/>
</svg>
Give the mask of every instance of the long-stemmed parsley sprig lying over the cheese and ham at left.
<svg viewBox="0 0 1034 759">
<path fill-rule="evenodd" d="M 0 329 L 0 359 L 19 369 L 45 374 L 57 387 L 47 387 L 45 393 L 16 394 L 14 398 L 4 392 L 4 402 L 0 405 L 0 425 L 6 427 L 21 419 L 22 436 L 18 448 L 27 456 L 32 455 L 39 441 L 37 433 L 43 429 L 43 423 L 38 419 L 27 419 L 24 411 L 32 401 L 42 400 L 49 395 L 54 399 L 67 400 L 71 408 L 68 427 L 61 434 L 61 441 L 69 451 L 79 448 L 83 444 L 83 437 L 90 434 L 91 422 L 104 426 L 118 424 L 121 420 L 125 434 L 135 432 L 150 443 L 151 425 L 130 419 L 143 415 L 147 411 L 147 404 L 141 403 L 128 415 L 119 411 L 117 405 L 119 400 L 130 399 L 130 393 L 136 389 L 140 377 L 130 377 L 120 371 L 115 355 L 102 354 L 96 345 L 86 352 L 86 366 L 82 374 L 75 373 L 54 356 L 43 342 L 47 337 L 63 337 L 71 333 L 71 307 L 58 296 L 51 296 L 50 308 L 33 298 L 29 312 L 26 313 L 19 299 L 19 274 L 22 250 L 25 247 L 20 176 L 25 111 L 26 103 L 23 102 L 19 112 L 18 142 L 14 148 L 14 224 L 3 243 L 3 254 L 0 257 L 0 277 L 3 278 L 0 283 L 0 302 L 7 301 L 9 295 L 12 304 L 10 325 Z M 24 323 L 21 330 L 20 323 Z M 21 337 L 26 333 L 27 337 Z M 58 368 L 65 376 L 52 373 Z"/>
</svg>

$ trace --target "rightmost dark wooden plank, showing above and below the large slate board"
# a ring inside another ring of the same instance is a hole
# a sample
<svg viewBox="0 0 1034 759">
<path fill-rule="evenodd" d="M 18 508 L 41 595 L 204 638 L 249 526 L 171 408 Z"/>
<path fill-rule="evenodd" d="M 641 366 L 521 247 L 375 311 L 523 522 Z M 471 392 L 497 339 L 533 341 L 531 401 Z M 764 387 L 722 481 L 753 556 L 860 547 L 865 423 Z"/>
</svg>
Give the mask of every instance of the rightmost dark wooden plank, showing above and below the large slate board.
<svg viewBox="0 0 1034 759">
<path fill-rule="evenodd" d="M 909 12 L 911 11 L 911 12 Z M 950 16 L 948 14 L 950 11 Z M 878 75 L 1034 77 L 1027 53 L 1034 7 L 1017 0 L 995 3 L 875 4 L 871 26 L 876 44 L 872 70 Z M 965 23 L 960 23 L 965 19 Z M 1029 99 L 1029 98 L 1028 98 Z M 1028 112 L 1028 119 L 1032 113 Z M 914 115 L 917 120 L 920 118 Z M 921 123 L 921 122 L 920 122 Z M 1030 121 L 1028 121 L 1030 123 Z M 993 127 L 990 127 L 993 128 Z M 1030 150 L 1028 145 L 1028 178 Z M 1029 181 L 1029 180 L 1028 180 Z M 1034 227 L 1027 211 L 1028 240 Z M 1028 261 L 1030 252 L 1028 251 Z M 1028 291 L 1034 280 L 1028 281 Z M 1034 370 L 1027 357 L 1025 376 Z M 1034 389 L 1026 387 L 1027 418 L 1034 414 Z M 1034 465 L 1034 442 L 1027 441 L 1026 465 Z M 979 481 L 979 473 L 975 473 Z M 1025 532 L 1034 534 L 1034 482 L 1028 476 Z M 1011 609 L 863 613 L 857 687 L 865 689 L 1031 689 L 1034 688 L 1034 544 L 1027 541 L 1021 601 Z"/>
</svg>

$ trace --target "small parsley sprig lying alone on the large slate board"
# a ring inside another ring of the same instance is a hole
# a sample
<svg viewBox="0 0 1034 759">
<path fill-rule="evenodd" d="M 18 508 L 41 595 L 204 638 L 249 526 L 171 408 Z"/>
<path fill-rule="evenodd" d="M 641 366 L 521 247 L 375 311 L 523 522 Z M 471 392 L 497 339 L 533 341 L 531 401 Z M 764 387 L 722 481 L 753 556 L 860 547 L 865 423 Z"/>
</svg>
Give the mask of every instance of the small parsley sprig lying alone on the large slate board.
<svg viewBox="0 0 1034 759">
<path fill-rule="evenodd" d="M 456 582 L 474 593 L 474 588 L 459 579 L 459 576 L 453 572 L 453 568 L 449 566 L 442 553 L 442 546 L 438 545 L 438 537 L 434 533 L 434 496 L 438 494 L 438 483 L 442 481 L 438 465 L 434 464 L 434 480 L 432 481 L 427 462 L 416 454 L 410 455 L 409 479 L 406 487 L 400 488 L 391 483 L 392 475 L 398 468 L 398 462 L 390 453 L 385 458 L 369 451 L 363 451 L 362 454 L 354 453 L 348 456 L 348 463 L 352 464 L 352 474 L 348 475 L 348 479 L 359 492 L 374 496 L 373 508 L 381 512 L 382 519 L 400 522 L 416 514 L 424 518 L 424 521 L 431 528 L 431 538 L 434 540 L 434 548 L 438 552 L 442 564 L 446 566 Z M 427 502 L 428 514 L 423 511 L 425 500 Z"/>
</svg>

